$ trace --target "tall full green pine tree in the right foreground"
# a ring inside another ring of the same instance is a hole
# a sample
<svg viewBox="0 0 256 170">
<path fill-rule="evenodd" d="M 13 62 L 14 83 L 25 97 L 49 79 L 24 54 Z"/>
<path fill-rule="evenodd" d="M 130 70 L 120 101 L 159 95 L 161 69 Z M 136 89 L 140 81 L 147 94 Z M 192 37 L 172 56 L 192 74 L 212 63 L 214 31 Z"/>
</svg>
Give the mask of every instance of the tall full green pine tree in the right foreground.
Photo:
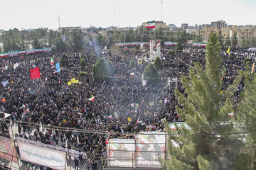
<svg viewBox="0 0 256 170">
<path fill-rule="evenodd" d="M 225 134 L 234 131 L 228 114 L 233 111 L 231 96 L 238 80 L 228 90 L 222 90 L 222 61 L 220 42 L 213 33 L 206 46 L 206 69 L 196 62 L 195 68 L 189 69 L 189 77 L 181 78 L 185 94 L 175 91 L 180 106 L 176 106 L 176 111 L 190 129 L 183 127 L 171 132 L 166 124 L 171 156 L 170 160 L 161 160 L 166 169 L 237 169 L 234 162 L 240 156 L 242 142 Z"/>
</svg>

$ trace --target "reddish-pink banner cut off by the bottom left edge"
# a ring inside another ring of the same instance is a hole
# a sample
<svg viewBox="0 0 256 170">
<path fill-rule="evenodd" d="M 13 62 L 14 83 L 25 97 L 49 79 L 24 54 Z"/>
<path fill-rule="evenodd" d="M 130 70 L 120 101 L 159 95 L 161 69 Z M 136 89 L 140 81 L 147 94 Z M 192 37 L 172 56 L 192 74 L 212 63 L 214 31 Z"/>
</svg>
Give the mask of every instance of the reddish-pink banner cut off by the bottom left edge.
<svg viewBox="0 0 256 170">
<path fill-rule="evenodd" d="M 13 155 L 13 156 L 12 156 Z M 18 163 L 14 141 L 6 137 L 0 137 L 0 157 L 8 161 Z"/>
</svg>

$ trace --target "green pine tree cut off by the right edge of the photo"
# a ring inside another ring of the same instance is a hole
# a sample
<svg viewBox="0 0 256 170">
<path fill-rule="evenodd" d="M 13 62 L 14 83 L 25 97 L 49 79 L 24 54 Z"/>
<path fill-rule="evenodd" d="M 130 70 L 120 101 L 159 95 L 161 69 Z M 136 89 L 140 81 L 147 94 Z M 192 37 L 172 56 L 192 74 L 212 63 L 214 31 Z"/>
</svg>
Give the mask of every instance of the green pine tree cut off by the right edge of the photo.
<svg viewBox="0 0 256 170">
<path fill-rule="evenodd" d="M 246 59 L 246 58 L 245 58 Z M 242 72 L 245 77 L 245 93 L 242 93 L 240 104 L 238 105 L 238 122 L 240 127 L 245 132 L 245 150 L 241 160 L 247 169 L 256 169 L 256 77 L 255 73 L 251 74 L 249 67 L 250 62 L 247 62 L 246 71 Z"/>
</svg>

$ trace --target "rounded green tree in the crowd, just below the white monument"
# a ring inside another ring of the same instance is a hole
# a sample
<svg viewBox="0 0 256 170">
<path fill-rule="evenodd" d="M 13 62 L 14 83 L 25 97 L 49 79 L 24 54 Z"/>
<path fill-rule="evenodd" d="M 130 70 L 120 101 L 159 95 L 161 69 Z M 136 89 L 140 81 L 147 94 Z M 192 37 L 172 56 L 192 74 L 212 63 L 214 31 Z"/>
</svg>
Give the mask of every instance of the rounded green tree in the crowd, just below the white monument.
<svg viewBox="0 0 256 170">
<path fill-rule="evenodd" d="M 149 64 L 143 72 L 143 79 L 146 79 L 146 84 L 158 84 L 160 75 L 157 72 L 154 64 Z"/>
</svg>

